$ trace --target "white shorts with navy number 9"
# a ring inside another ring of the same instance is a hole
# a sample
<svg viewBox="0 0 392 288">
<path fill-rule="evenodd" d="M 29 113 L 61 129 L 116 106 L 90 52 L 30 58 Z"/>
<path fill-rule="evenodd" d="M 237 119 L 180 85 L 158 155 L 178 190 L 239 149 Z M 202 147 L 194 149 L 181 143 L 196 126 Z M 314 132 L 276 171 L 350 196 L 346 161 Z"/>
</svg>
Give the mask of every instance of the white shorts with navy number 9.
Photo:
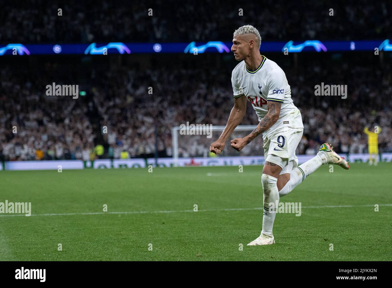
<svg viewBox="0 0 392 288">
<path fill-rule="evenodd" d="M 282 127 L 266 135 L 264 141 L 264 159 L 279 165 L 280 174 L 290 173 L 298 166 L 295 150 L 301 141 L 303 128 Z"/>
</svg>

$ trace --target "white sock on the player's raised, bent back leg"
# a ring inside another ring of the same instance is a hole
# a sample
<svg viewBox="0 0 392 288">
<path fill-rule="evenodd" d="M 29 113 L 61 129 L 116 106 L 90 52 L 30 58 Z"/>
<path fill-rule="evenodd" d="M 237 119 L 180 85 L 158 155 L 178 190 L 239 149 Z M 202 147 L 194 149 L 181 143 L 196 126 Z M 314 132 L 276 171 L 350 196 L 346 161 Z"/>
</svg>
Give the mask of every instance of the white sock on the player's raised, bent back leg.
<svg viewBox="0 0 392 288">
<path fill-rule="evenodd" d="M 301 183 L 310 174 L 316 171 L 321 165 L 327 164 L 327 156 L 324 153 L 319 153 L 309 161 L 294 168 L 290 173 L 290 180 L 279 191 L 279 196 L 283 197 L 289 194 L 299 183 Z"/>
</svg>

